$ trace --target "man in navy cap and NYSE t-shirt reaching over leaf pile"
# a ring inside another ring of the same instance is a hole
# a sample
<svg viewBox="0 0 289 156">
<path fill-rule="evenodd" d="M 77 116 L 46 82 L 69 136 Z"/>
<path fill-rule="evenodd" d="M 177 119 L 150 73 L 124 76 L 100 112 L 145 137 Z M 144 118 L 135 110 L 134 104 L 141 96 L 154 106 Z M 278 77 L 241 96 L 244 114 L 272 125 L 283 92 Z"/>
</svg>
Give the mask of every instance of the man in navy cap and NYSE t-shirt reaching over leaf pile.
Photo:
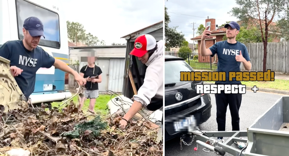
<svg viewBox="0 0 289 156">
<path fill-rule="evenodd" d="M 72 74 L 79 85 L 86 83 L 78 72 L 50 56 L 38 46 L 41 36 L 44 37 L 43 24 L 36 17 L 29 17 L 23 24 L 23 40 L 13 40 L 0 47 L 0 56 L 10 60 L 11 73 L 28 101 L 34 91 L 36 72 L 39 68 L 55 68 Z M 45 37 L 44 37 L 45 38 Z"/>
</svg>

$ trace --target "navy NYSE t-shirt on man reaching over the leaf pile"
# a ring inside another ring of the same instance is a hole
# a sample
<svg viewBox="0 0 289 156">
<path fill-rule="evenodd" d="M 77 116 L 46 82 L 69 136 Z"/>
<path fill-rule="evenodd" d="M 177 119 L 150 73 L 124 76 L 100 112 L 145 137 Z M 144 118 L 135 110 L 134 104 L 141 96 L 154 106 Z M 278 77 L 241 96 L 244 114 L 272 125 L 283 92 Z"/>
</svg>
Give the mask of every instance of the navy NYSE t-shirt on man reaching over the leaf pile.
<svg viewBox="0 0 289 156">
<path fill-rule="evenodd" d="M 27 99 L 34 91 L 37 70 L 39 68 L 50 68 L 55 62 L 54 57 L 39 46 L 32 51 L 27 50 L 22 40 L 4 43 L 0 47 L 0 56 L 10 60 L 10 66 L 23 69 L 21 75 L 14 78 Z"/>
</svg>

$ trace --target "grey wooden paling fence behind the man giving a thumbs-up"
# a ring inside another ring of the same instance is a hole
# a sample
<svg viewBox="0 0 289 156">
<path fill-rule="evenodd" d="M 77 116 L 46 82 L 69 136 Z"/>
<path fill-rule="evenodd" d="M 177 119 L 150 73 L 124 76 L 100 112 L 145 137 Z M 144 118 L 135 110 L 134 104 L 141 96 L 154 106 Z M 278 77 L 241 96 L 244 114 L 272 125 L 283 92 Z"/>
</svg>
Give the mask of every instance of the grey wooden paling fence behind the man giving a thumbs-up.
<svg viewBox="0 0 289 156">
<path fill-rule="evenodd" d="M 251 71 L 263 71 L 263 43 L 246 44 L 251 59 Z M 266 69 L 274 72 L 289 73 L 289 42 L 267 44 Z M 241 63 L 241 70 L 245 70 Z"/>
</svg>

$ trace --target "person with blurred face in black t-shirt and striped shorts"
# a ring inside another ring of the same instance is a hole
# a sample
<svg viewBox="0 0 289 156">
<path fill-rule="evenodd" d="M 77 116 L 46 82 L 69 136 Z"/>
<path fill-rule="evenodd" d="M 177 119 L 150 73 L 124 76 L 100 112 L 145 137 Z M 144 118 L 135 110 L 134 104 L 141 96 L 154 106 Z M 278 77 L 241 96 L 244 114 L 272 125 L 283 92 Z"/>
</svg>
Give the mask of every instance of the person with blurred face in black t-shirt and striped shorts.
<svg viewBox="0 0 289 156">
<path fill-rule="evenodd" d="M 88 57 L 88 64 L 83 66 L 79 75 L 86 78 L 84 97 L 79 104 L 79 110 L 84 104 L 84 101 L 89 98 L 89 112 L 94 114 L 94 105 L 98 98 L 98 83 L 101 83 L 101 68 L 95 65 L 95 57 Z"/>
</svg>

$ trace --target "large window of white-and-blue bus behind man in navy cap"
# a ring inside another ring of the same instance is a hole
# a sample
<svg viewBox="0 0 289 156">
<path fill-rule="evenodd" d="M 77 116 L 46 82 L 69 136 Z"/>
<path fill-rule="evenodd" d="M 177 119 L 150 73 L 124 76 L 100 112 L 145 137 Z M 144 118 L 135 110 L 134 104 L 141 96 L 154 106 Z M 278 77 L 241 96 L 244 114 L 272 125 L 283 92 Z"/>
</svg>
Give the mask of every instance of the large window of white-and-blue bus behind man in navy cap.
<svg viewBox="0 0 289 156">
<path fill-rule="evenodd" d="M 60 48 L 59 16 L 57 13 L 24 0 L 16 0 L 16 13 L 19 40 L 22 40 L 24 37 L 22 31 L 24 20 L 30 16 L 35 16 L 44 25 L 45 39 L 41 37 L 39 45 Z"/>
</svg>

